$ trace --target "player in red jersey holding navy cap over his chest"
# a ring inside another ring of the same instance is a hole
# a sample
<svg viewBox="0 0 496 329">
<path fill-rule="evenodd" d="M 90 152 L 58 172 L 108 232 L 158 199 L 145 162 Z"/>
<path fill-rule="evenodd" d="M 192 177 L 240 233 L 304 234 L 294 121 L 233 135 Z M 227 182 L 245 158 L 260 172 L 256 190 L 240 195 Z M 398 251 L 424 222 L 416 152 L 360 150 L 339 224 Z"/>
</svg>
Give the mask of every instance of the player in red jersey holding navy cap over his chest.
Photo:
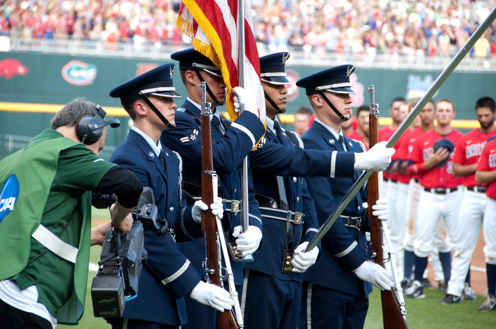
<svg viewBox="0 0 496 329">
<path fill-rule="evenodd" d="M 406 298 L 425 297 L 420 281 L 427 267 L 427 256 L 433 249 L 434 238 L 441 217 L 446 223 L 449 236 L 458 236 L 457 216 L 461 201 L 458 185 L 461 179 L 453 177 L 452 157 L 455 145 L 463 135 L 451 127 L 455 116 L 453 102 L 447 99 L 435 104 L 437 126 L 415 141 L 409 156 L 407 172 L 420 174 L 419 206 L 417 209 L 416 237 L 414 240 L 415 280 L 405 292 Z M 439 250 L 439 259 L 444 272 L 444 280 L 449 280 L 450 249 Z"/>
</svg>

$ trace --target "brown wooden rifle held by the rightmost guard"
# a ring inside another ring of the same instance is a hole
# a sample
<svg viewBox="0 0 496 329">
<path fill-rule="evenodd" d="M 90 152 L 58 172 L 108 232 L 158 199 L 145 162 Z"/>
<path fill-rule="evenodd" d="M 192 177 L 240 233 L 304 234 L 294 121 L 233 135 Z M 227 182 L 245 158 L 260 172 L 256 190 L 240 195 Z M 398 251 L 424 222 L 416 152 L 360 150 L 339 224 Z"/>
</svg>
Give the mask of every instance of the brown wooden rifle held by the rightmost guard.
<svg viewBox="0 0 496 329">
<path fill-rule="evenodd" d="M 369 148 L 372 148 L 378 143 L 378 123 L 377 118 L 379 115 L 378 105 L 374 104 L 374 87 L 373 85 L 369 88 L 369 93 L 371 93 L 371 112 L 369 115 Z M 368 180 L 368 204 L 369 208 L 367 210 L 367 215 L 371 219 L 371 243 L 372 243 L 372 255 L 375 264 L 380 265 L 384 268 L 384 258 L 382 250 L 382 224 L 380 220 L 372 215 L 372 205 L 375 205 L 379 199 L 379 175 L 377 172 L 373 172 Z M 393 215 L 394 216 L 394 215 Z M 408 329 L 408 324 L 406 322 L 405 316 L 402 313 L 400 302 L 398 297 L 394 292 L 394 289 L 390 291 L 381 291 L 380 299 L 382 304 L 382 321 L 384 324 L 384 329 Z"/>
</svg>

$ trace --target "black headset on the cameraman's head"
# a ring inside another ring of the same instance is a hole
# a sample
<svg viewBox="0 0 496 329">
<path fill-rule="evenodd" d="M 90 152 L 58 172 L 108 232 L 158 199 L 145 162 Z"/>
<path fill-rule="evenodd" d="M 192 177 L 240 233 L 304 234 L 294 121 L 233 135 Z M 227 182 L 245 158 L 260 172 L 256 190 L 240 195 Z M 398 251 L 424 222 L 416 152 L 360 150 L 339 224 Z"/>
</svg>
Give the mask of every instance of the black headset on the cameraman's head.
<svg viewBox="0 0 496 329">
<path fill-rule="evenodd" d="M 117 128 L 121 125 L 119 119 L 104 120 L 107 114 L 100 105 L 96 106 L 98 111 L 95 115 L 85 114 L 76 122 L 76 135 L 81 140 L 81 143 L 91 145 L 96 143 L 102 137 L 102 128 L 109 125 L 112 128 Z"/>
</svg>

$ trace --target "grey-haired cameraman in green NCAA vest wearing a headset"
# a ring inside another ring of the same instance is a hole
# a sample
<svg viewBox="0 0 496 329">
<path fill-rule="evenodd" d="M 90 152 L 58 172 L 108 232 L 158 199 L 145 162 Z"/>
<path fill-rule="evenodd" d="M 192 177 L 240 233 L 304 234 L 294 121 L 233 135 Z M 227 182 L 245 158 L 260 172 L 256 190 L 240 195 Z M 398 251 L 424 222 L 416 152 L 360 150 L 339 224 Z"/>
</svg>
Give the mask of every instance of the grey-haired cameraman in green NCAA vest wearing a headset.
<svg viewBox="0 0 496 329">
<path fill-rule="evenodd" d="M 105 126 L 120 124 L 104 117 L 76 98 L 55 114 L 51 129 L 0 162 L 2 328 L 55 329 L 81 319 L 95 242 L 89 191 L 116 194 L 112 222 L 131 228 L 126 215 L 143 187 L 129 170 L 99 158 Z"/>
</svg>

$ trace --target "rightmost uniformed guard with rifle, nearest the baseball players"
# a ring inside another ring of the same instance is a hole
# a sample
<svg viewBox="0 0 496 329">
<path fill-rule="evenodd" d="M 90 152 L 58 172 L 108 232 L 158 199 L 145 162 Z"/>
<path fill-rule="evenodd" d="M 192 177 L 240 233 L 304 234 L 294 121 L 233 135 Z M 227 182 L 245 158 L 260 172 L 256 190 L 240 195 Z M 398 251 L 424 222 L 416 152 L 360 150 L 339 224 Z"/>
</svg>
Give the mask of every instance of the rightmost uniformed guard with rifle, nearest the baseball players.
<svg viewBox="0 0 496 329">
<path fill-rule="evenodd" d="M 350 94 L 355 91 L 351 88 L 350 75 L 354 69 L 353 65 L 337 66 L 296 84 L 306 89 L 315 113 L 315 120 L 302 137 L 305 149 L 355 152 L 357 164 L 363 148 L 343 137 L 340 128 L 352 112 Z M 377 145 L 384 147 L 385 142 Z M 393 149 L 386 150 L 389 156 L 394 154 Z M 320 225 L 356 179 L 358 173 L 346 178 L 306 178 Z M 362 188 L 321 240 L 320 259 L 304 275 L 299 328 L 363 328 L 369 307 L 368 295 L 372 291 L 369 282 L 382 290 L 393 286 L 390 273 L 370 262 L 366 252 L 366 197 L 366 189 Z M 387 219 L 386 200 L 379 199 L 373 209 L 379 219 Z"/>
</svg>

